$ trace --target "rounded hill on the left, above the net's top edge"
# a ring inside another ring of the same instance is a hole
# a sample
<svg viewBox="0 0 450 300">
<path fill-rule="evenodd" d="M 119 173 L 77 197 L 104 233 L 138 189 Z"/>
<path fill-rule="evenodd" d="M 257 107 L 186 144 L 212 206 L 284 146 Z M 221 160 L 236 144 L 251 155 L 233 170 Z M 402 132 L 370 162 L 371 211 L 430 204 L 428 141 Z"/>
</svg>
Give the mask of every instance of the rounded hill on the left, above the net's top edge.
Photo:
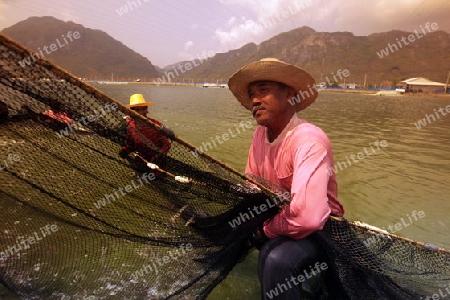
<svg viewBox="0 0 450 300">
<path fill-rule="evenodd" d="M 2 33 L 32 51 L 42 53 L 46 59 L 78 77 L 135 79 L 159 76 L 155 66 L 142 55 L 103 31 L 73 22 L 31 17 Z"/>
</svg>

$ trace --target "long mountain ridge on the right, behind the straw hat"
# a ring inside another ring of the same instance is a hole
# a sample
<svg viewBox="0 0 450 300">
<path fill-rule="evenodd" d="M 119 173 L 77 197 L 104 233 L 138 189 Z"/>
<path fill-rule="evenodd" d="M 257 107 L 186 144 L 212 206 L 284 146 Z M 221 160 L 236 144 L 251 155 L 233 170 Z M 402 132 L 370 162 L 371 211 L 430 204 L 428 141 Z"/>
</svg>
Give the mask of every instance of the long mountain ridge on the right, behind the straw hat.
<svg viewBox="0 0 450 300">
<path fill-rule="evenodd" d="M 412 40 L 410 35 L 415 37 L 414 42 L 408 42 L 408 37 Z M 347 83 L 395 85 L 411 77 L 445 82 L 450 71 L 450 34 L 434 31 L 417 35 L 393 30 L 355 36 L 350 32 L 317 32 L 301 27 L 259 45 L 250 43 L 217 54 L 183 76 L 228 78 L 241 66 L 264 57 L 301 66 L 311 73 L 316 83 L 342 83 L 345 79 Z M 342 76 L 345 70 L 346 77 Z M 340 77 L 335 76 L 338 72 Z"/>
</svg>

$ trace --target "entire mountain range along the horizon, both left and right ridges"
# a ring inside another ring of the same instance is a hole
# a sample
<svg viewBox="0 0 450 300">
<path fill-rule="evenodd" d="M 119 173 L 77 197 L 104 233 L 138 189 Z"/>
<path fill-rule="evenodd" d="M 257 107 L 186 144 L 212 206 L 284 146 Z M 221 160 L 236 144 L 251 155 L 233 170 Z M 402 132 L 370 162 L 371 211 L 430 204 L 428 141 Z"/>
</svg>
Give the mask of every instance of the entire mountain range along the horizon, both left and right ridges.
<svg viewBox="0 0 450 300">
<path fill-rule="evenodd" d="M 78 32 L 79 38 L 69 41 L 69 32 Z M 76 76 L 91 79 L 113 76 L 166 81 L 171 77 L 172 81 L 226 82 L 241 66 L 264 57 L 301 66 L 317 83 L 325 84 L 345 80 L 361 85 L 395 85 L 411 77 L 445 82 L 450 71 L 450 34 L 431 28 L 422 28 L 420 32 L 392 30 L 355 36 L 350 32 L 317 32 L 301 27 L 259 45 L 249 43 L 207 60 L 178 62 L 164 69 L 154 66 L 105 32 L 53 17 L 31 17 L 2 33 L 43 54 L 47 54 L 43 45 L 51 45 L 57 39 L 62 47 L 46 58 Z M 190 71 L 183 69 L 188 63 L 192 66 Z M 180 66 L 184 72 L 175 75 L 174 71 L 181 70 Z M 173 76 L 169 76 L 171 71 Z M 338 73 L 341 75 L 336 76 Z"/>
</svg>

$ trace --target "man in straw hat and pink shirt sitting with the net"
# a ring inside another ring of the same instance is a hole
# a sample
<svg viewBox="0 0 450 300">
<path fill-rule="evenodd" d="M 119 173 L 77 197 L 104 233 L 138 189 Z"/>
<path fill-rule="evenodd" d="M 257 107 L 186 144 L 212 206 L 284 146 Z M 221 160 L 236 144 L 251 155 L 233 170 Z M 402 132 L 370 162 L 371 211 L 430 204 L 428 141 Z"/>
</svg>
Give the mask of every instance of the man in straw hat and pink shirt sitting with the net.
<svg viewBox="0 0 450 300">
<path fill-rule="evenodd" d="M 259 238 L 267 239 L 258 263 L 264 299 L 271 299 L 273 291 L 279 293 L 276 299 L 300 299 L 295 287 L 299 275 L 312 273 L 310 266 L 326 260 L 315 232 L 331 214 L 344 214 L 336 175 L 328 172 L 334 165 L 331 143 L 320 128 L 297 116 L 317 98 L 314 84 L 305 70 L 274 58 L 250 63 L 228 81 L 260 125 L 253 134 L 246 173 L 291 195 L 290 203 L 257 231 Z"/>
</svg>

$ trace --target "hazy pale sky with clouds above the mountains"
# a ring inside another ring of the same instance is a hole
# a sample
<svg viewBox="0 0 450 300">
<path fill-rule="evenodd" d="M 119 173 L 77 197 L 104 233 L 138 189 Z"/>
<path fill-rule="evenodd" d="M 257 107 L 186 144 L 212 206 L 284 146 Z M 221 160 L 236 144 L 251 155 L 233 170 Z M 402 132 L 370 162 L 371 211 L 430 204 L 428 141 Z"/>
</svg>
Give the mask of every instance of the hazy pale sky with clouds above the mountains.
<svg viewBox="0 0 450 300">
<path fill-rule="evenodd" d="M 0 0 L 0 30 L 30 16 L 105 31 L 160 67 L 301 26 L 368 35 L 436 22 L 450 32 L 450 0 Z"/>
</svg>

